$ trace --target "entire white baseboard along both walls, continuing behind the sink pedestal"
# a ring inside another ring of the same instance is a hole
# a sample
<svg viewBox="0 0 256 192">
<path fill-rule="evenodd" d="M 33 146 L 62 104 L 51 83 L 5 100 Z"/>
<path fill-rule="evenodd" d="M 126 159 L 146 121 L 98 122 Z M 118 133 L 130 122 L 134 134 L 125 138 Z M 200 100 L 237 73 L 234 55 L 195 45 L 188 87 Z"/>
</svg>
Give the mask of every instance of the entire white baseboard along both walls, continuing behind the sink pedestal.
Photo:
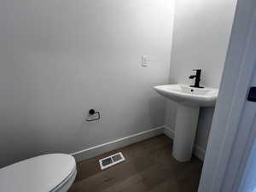
<svg viewBox="0 0 256 192">
<path fill-rule="evenodd" d="M 97 155 L 107 153 L 114 149 L 123 148 L 133 143 L 138 143 L 145 139 L 158 136 L 160 134 L 165 134 L 167 137 L 170 137 L 171 139 L 174 138 L 174 131 L 172 129 L 170 129 L 167 126 L 160 126 L 152 130 L 143 131 L 131 135 L 129 137 L 122 137 L 109 143 L 103 143 L 92 148 L 86 148 L 84 150 L 75 152 L 72 155 L 77 162 L 82 160 L 88 160 L 92 157 L 96 157 Z M 204 160 L 205 158 L 205 150 L 198 145 L 195 145 L 193 149 L 193 154 L 195 154 L 195 156 L 200 160 Z"/>
</svg>

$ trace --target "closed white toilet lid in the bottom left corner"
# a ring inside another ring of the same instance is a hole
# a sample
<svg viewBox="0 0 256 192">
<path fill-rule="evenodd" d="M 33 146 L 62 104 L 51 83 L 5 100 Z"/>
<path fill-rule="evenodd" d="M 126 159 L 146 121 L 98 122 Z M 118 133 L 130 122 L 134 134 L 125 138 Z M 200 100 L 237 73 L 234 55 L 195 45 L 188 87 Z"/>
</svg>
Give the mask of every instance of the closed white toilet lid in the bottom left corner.
<svg viewBox="0 0 256 192">
<path fill-rule="evenodd" d="M 0 190 L 4 192 L 49 192 L 75 172 L 69 154 L 45 154 L 0 169 Z"/>
</svg>

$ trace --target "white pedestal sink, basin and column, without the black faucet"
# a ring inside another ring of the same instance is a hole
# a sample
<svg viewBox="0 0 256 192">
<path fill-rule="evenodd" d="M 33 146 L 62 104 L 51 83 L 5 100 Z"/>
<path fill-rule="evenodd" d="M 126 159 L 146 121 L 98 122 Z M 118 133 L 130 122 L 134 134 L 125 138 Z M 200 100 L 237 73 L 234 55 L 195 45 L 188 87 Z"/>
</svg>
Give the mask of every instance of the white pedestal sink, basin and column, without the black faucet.
<svg viewBox="0 0 256 192">
<path fill-rule="evenodd" d="M 215 105 L 218 89 L 194 88 L 185 84 L 166 84 L 155 86 L 160 95 L 177 102 L 172 155 L 176 160 L 188 161 L 195 143 L 200 107 Z"/>
</svg>

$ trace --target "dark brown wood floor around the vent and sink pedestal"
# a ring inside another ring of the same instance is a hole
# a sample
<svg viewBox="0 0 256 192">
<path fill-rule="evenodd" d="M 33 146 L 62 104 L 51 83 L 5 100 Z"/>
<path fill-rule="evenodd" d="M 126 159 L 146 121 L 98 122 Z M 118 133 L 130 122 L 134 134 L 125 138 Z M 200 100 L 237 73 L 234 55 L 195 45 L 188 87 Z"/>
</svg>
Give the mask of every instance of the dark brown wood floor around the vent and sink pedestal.
<svg viewBox="0 0 256 192">
<path fill-rule="evenodd" d="M 125 162 L 100 170 L 98 160 L 121 151 Z M 202 162 L 193 157 L 180 163 L 172 158 L 172 140 L 164 135 L 120 148 L 78 164 L 68 192 L 196 192 Z"/>
</svg>

